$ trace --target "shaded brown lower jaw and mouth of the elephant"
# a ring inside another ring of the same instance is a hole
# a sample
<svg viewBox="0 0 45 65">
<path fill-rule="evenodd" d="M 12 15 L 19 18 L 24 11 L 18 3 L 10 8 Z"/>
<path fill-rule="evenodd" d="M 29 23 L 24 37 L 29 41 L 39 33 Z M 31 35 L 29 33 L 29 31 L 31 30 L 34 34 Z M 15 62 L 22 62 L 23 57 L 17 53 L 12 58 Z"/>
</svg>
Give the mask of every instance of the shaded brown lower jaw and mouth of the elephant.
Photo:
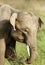
<svg viewBox="0 0 45 65">
<path fill-rule="evenodd" d="M 19 42 L 23 42 L 24 41 L 24 36 L 19 31 L 17 32 L 17 31 L 12 30 L 11 35 L 13 36 L 13 38 L 16 41 L 19 41 Z"/>
</svg>

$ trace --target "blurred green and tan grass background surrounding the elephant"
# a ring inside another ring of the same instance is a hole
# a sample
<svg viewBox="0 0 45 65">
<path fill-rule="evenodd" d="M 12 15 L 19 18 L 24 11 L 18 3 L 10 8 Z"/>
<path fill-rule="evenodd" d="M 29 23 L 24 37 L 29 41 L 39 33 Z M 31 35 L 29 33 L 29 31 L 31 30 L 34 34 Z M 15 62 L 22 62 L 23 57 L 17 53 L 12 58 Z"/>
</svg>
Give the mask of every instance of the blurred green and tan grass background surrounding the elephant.
<svg viewBox="0 0 45 65">
<path fill-rule="evenodd" d="M 38 56 L 36 60 L 29 65 L 45 65 L 45 0 L 0 0 L 0 3 L 9 4 L 12 7 L 20 10 L 32 11 L 36 15 L 40 16 L 44 22 L 44 25 L 37 33 Z M 25 44 L 17 42 L 16 51 L 19 58 L 23 56 L 28 57 Z M 5 59 L 5 65 L 11 65 L 7 59 Z M 21 64 L 16 61 L 14 65 L 28 64 Z"/>
</svg>

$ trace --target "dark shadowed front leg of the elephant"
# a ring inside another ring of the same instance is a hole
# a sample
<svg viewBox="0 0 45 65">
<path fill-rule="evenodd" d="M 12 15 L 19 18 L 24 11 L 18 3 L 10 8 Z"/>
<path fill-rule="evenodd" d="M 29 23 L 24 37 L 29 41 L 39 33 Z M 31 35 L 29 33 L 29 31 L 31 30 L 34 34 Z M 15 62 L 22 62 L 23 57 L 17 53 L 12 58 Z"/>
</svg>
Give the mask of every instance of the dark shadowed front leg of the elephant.
<svg viewBox="0 0 45 65">
<path fill-rule="evenodd" d="M 16 58 L 16 41 L 11 37 L 6 45 L 5 57 L 10 61 L 15 61 Z"/>
</svg>

